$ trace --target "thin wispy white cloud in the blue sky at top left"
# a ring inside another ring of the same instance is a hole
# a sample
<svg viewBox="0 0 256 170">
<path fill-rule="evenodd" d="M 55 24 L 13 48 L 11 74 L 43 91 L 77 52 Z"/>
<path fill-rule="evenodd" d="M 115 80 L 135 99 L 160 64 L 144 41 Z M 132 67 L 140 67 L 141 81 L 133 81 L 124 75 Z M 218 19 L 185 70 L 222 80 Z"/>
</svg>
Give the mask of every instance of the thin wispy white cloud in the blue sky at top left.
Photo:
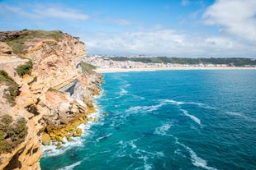
<svg viewBox="0 0 256 170">
<path fill-rule="evenodd" d="M 5 16 L 21 16 L 31 19 L 64 19 L 68 21 L 88 20 L 88 15 L 69 7 L 56 4 L 31 4 L 32 7 L 13 7 L 4 3 L 0 4 L 0 13 Z M 31 10 L 28 10 L 31 9 Z"/>
</svg>

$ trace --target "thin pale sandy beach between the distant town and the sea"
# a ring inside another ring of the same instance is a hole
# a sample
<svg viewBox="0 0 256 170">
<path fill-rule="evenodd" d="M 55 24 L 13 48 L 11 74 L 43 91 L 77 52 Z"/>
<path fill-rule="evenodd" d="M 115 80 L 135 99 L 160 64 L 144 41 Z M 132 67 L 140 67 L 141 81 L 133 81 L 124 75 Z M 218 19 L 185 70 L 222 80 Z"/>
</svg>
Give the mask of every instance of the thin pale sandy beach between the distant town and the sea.
<svg viewBox="0 0 256 170">
<path fill-rule="evenodd" d="M 97 68 L 97 73 L 130 71 L 171 71 L 171 70 L 255 70 L 256 67 L 147 67 L 147 68 Z"/>
</svg>

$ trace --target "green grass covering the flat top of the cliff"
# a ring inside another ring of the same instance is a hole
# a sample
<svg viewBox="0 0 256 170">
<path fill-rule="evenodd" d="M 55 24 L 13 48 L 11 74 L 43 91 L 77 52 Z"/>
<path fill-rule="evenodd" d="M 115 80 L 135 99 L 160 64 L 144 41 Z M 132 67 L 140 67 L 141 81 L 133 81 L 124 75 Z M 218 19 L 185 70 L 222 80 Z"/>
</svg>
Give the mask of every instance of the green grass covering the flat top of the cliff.
<svg viewBox="0 0 256 170">
<path fill-rule="evenodd" d="M 13 49 L 13 53 L 16 54 L 25 54 L 28 47 L 26 47 L 26 41 L 29 39 L 55 39 L 59 42 L 60 39 L 64 36 L 64 34 L 59 30 L 54 31 L 46 31 L 46 30 L 21 30 L 17 33 L 21 33 L 22 31 L 27 31 L 28 34 L 21 35 L 17 39 L 7 39 L 6 43 L 10 45 Z"/>
</svg>

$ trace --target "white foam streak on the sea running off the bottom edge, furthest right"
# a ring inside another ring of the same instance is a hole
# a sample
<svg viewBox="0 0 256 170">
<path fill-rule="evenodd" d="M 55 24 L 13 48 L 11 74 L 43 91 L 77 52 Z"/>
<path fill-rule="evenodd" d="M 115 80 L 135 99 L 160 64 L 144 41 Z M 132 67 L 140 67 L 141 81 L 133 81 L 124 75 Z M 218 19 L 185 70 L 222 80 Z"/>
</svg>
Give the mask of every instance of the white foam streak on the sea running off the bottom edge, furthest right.
<svg viewBox="0 0 256 170">
<path fill-rule="evenodd" d="M 192 164 L 196 167 L 205 168 L 207 170 L 217 170 L 216 168 L 212 168 L 207 166 L 207 161 L 205 159 L 201 159 L 195 151 L 193 151 L 191 148 L 189 148 L 187 145 L 183 145 L 182 143 L 178 142 L 178 138 L 175 138 L 175 143 L 178 145 L 183 146 L 184 149 L 187 149 L 187 151 L 190 154 L 190 159 L 192 161 Z"/>
</svg>

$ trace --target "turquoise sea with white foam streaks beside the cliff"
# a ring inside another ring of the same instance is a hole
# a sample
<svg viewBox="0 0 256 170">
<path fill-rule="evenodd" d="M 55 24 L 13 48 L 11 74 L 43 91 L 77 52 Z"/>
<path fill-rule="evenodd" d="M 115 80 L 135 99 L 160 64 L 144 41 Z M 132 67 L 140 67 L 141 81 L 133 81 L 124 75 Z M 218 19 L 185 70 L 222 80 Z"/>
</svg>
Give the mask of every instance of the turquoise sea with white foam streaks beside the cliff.
<svg viewBox="0 0 256 170">
<path fill-rule="evenodd" d="M 256 70 L 104 74 L 99 122 L 48 169 L 256 169 Z M 107 112 L 107 116 L 103 116 Z"/>
</svg>

